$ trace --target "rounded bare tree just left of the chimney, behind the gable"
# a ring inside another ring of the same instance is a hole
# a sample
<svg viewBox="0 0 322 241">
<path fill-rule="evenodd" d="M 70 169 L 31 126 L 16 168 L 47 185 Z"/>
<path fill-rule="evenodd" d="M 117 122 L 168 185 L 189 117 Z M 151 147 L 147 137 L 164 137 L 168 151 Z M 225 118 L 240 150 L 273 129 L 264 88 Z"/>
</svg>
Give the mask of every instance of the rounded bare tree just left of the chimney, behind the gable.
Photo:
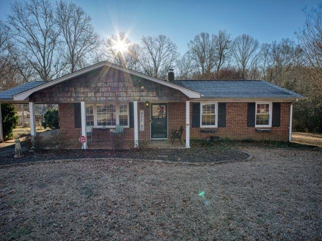
<svg viewBox="0 0 322 241">
<path fill-rule="evenodd" d="M 140 63 L 143 71 L 152 77 L 167 79 L 178 57 L 177 45 L 165 35 L 142 37 Z"/>
</svg>

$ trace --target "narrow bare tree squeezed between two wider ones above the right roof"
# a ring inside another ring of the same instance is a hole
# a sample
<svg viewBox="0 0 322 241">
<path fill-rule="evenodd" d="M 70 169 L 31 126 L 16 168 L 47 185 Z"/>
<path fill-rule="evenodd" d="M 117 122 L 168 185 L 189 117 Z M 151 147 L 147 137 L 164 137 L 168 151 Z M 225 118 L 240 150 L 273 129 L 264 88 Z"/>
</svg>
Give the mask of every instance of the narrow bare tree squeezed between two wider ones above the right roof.
<svg viewBox="0 0 322 241">
<path fill-rule="evenodd" d="M 216 75 L 220 68 L 227 62 L 231 53 L 231 37 L 225 30 L 220 30 L 218 35 L 213 35 L 215 45 Z"/>
</svg>

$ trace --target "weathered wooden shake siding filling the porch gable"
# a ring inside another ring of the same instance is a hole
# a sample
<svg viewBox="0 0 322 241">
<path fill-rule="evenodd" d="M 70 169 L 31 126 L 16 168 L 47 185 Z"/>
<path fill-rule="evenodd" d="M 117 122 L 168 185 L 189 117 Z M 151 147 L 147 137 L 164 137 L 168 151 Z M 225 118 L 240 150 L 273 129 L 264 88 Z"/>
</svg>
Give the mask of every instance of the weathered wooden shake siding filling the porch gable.
<svg viewBox="0 0 322 241">
<path fill-rule="evenodd" d="M 179 90 L 109 67 L 102 67 L 30 96 L 30 101 L 42 103 L 185 100 L 188 97 Z"/>
</svg>

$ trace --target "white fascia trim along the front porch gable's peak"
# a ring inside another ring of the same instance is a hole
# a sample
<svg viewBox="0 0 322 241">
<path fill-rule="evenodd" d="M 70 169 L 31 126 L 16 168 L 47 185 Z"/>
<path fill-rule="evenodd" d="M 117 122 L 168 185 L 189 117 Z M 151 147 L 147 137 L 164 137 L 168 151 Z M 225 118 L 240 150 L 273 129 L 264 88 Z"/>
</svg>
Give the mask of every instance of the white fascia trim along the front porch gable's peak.
<svg viewBox="0 0 322 241">
<path fill-rule="evenodd" d="M 19 94 L 16 94 L 16 95 L 13 96 L 14 100 L 25 100 L 26 98 L 29 97 L 29 95 L 31 95 L 34 92 L 37 92 L 39 90 L 51 87 L 51 86 L 56 85 L 56 84 L 59 84 L 59 83 L 61 83 L 63 81 L 66 81 L 68 79 L 77 77 L 79 75 L 86 74 L 89 71 L 92 71 L 92 70 L 95 70 L 97 68 L 101 68 L 101 67 L 104 67 L 104 66 L 115 68 L 115 69 L 121 70 L 123 72 L 127 72 L 129 74 L 133 74 L 133 75 L 136 75 L 138 77 L 141 77 L 141 78 L 144 78 L 144 79 L 147 79 L 147 80 L 151 80 L 153 82 L 156 82 L 156 83 L 159 83 L 159 84 L 162 84 L 162 85 L 166 85 L 166 86 L 168 86 L 170 88 L 177 89 L 177 90 L 181 91 L 182 93 L 184 93 L 185 95 L 187 95 L 189 98 L 200 98 L 201 97 L 201 94 L 196 92 L 196 91 L 181 87 L 179 85 L 176 85 L 176 84 L 173 84 L 173 83 L 170 83 L 170 82 L 166 82 L 164 80 L 156 79 L 156 78 L 150 77 L 150 76 L 145 75 L 145 74 L 141 74 L 141 73 L 136 72 L 134 70 L 130 70 L 130 69 L 127 69 L 125 67 L 122 67 L 122 66 L 119 66 L 119 65 L 116 65 L 116 64 L 112 64 L 112 63 L 107 62 L 107 61 L 103 61 L 103 62 L 94 64 L 92 66 L 89 66 L 87 68 L 78 70 L 76 72 L 67 74 L 67 75 L 62 76 L 62 77 L 60 77 L 58 79 L 46 82 L 46 83 L 44 83 L 42 85 L 39 85 L 39 86 L 34 87 L 32 89 L 26 90 L 26 91 L 21 92 Z"/>
</svg>

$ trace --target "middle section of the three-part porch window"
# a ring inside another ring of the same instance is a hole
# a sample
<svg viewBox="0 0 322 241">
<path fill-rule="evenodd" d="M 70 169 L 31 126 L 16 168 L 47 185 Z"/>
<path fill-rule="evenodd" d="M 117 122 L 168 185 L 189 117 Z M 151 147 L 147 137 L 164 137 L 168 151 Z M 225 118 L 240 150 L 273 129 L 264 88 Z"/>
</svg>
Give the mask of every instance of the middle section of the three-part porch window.
<svg viewBox="0 0 322 241">
<path fill-rule="evenodd" d="M 116 126 L 116 104 L 97 104 L 97 126 Z"/>
</svg>

